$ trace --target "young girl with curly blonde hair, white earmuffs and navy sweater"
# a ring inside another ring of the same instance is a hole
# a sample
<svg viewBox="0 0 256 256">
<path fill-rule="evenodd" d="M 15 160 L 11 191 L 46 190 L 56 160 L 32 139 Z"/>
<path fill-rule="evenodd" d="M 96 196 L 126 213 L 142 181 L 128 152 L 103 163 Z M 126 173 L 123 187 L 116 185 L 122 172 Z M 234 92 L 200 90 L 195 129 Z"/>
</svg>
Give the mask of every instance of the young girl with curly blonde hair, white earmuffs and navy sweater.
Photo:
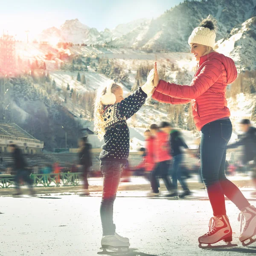
<svg viewBox="0 0 256 256">
<path fill-rule="evenodd" d="M 129 156 L 130 136 L 126 120 L 134 115 L 151 96 L 154 70 L 147 82 L 124 99 L 122 87 L 111 81 L 97 92 L 94 108 L 94 127 L 105 144 L 100 153 L 100 170 L 103 174 L 103 192 L 100 206 L 102 221 L 102 248 L 129 247 L 129 239 L 119 236 L 113 224 L 113 203 L 122 169 Z"/>
</svg>

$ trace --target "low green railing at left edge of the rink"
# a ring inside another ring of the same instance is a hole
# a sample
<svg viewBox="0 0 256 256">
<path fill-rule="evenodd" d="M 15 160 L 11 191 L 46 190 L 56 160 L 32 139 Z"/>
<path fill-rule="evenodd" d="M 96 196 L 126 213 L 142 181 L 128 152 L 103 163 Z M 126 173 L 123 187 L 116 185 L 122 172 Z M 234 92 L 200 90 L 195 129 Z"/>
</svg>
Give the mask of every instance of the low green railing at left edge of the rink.
<svg viewBox="0 0 256 256">
<path fill-rule="evenodd" d="M 78 186 L 81 172 L 74 173 L 49 173 L 49 174 L 32 174 L 35 187 L 52 187 L 52 186 Z M 0 175 L 0 189 L 15 187 L 15 175 Z"/>
</svg>

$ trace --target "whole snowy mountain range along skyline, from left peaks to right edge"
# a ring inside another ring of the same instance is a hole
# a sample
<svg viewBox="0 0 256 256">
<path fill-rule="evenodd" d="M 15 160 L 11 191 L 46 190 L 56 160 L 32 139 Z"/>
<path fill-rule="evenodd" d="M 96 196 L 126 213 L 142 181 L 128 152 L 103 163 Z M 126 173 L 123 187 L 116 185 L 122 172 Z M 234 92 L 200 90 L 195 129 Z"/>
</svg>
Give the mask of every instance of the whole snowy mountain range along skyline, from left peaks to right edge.
<svg viewBox="0 0 256 256">
<path fill-rule="evenodd" d="M 108 43 L 109 46 L 122 48 L 186 52 L 189 50 L 187 39 L 192 30 L 198 26 L 198 20 L 209 14 L 218 20 L 216 40 L 222 40 L 218 42 L 219 46 L 235 35 L 238 30 L 243 29 L 243 26 L 254 26 L 250 18 L 256 15 L 256 0 L 188 0 L 154 20 L 134 20 L 120 24 L 113 30 L 106 28 L 102 32 L 89 28 L 78 19 L 66 20 L 60 29 L 53 27 L 44 30 L 41 38 L 46 40 L 55 37 L 60 41 L 75 44 Z M 243 39 L 244 37 L 247 39 L 243 40 L 243 46 L 247 48 L 250 47 L 247 44 L 254 39 L 253 34 L 244 32 Z"/>
</svg>

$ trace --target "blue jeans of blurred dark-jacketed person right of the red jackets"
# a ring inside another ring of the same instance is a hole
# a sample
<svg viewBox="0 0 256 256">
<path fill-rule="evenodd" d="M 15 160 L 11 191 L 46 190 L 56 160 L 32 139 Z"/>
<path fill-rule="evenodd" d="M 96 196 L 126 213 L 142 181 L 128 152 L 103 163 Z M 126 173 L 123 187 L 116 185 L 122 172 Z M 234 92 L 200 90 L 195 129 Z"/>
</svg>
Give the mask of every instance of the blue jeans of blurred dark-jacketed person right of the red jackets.
<svg viewBox="0 0 256 256">
<path fill-rule="evenodd" d="M 178 154 L 173 157 L 172 161 L 172 185 L 174 189 L 178 188 L 177 180 L 179 180 L 180 185 L 183 190 L 188 190 L 186 180 L 183 178 L 183 175 L 180 172 L 180 163 L 182 162 L 183 154 Z"/>
</svg>

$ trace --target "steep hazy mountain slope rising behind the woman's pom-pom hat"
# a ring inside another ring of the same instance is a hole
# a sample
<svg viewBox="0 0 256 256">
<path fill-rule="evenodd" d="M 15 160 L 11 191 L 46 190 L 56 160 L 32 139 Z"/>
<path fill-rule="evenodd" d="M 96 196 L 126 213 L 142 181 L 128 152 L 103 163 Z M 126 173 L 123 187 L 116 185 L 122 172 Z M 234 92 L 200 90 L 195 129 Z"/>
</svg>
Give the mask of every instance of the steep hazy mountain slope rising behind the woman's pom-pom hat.
<svg viewBox="0 0 256 256">
<path fill-rule="evenodd" d="M 150 23 L 138 26 L 111 44 L 119 47 L 187 51 L 187 39 L 198 20 L 209 14 L 218 20 L 217 40 L 225 38 L 237 25 L 255 15 L 255 0 L 185 1 Z"/>
</svg>

